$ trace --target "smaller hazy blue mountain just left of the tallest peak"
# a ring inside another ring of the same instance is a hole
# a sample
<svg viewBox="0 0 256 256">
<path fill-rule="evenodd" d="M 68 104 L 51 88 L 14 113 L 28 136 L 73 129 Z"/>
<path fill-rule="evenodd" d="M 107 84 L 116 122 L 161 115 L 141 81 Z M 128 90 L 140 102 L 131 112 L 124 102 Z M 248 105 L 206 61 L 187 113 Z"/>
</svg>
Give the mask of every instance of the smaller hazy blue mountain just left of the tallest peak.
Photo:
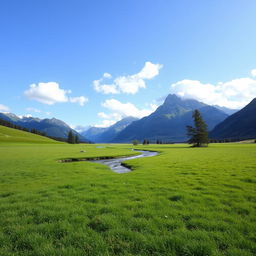
<svg viewBox="0 0 256 256">
<path fill-rule="evenodd" d="M 82 135 L 93 142 L 108 143 L 111 142 L 119 132 L 136 120 L 138 120 L 138 118 L 132 116 L 125 117 L 108 128 L 91 127 L 89 130 L 82 133 Z"/>
</svg>

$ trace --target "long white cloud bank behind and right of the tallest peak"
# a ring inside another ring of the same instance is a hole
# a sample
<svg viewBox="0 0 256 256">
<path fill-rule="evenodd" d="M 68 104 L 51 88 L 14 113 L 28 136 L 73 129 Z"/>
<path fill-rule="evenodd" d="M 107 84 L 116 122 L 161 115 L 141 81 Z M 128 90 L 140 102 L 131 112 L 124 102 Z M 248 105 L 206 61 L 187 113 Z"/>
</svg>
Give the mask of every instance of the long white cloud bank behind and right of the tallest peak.
<svg viewBox="0 0 256 256">
<path fill-rule="evenodd" d="M 171 85 L 171 92 L 209 105 L 242 108 L 256 97 L 256 80 L 238 78 L 227 82 L 204 84 L 197 80 L 182 80 Z"/>
</svg>

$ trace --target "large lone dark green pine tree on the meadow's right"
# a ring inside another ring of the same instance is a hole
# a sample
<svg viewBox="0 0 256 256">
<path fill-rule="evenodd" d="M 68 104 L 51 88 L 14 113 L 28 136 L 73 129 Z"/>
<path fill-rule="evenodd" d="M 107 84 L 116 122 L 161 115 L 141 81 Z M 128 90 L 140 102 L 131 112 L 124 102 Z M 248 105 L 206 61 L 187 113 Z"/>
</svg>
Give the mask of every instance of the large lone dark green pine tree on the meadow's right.
<svg viewBox="0 0 256 256">
<path fill-rule="evenodd" d="M 187 135 L 190 137 L 189 143 L 194 147 L 207 146 L 209 143 L 207 124 L 204 122 L 200 112 L 193 112 L 195 127 L 187 126 Z"/>
</svg>

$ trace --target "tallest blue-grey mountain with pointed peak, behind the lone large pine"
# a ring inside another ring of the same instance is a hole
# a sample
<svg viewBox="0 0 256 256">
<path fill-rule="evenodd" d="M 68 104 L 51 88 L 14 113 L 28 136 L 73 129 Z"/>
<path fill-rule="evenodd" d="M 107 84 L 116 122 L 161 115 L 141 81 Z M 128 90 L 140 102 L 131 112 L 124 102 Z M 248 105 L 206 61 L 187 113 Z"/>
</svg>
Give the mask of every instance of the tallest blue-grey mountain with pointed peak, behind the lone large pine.
<svg viewBox="0 0 256 256">
<path fill-rule="evenodd" d="M 170 94 L 163 105 L 151 115 L 134 121 L 117 134 L 112 142 L 132 140 L 162 140 L 168 142 L 186 141 L 186 126 L 193 125 L 192 111 L 198 109 L 208 125 L 208 129 L 223 121 L 228 115 L 215 107 L 193 99 L 181 99 Z"/>
</svg>

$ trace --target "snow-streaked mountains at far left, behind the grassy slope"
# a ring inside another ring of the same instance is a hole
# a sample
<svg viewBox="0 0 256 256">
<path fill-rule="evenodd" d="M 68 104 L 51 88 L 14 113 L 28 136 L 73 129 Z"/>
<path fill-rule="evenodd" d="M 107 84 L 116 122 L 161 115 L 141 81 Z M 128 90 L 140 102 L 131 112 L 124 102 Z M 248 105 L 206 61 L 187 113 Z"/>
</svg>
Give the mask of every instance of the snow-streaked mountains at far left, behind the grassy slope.
<svg viewBox="0 0 256 256">
<path fill-rule="evenodd" d="M 83 136 L 81 136 L 78 132 L 71 129 L 66 123 L 56 118 L 20 118 L 12 113 L 0 113 L 0 118 L 28 129 L 36 129 L 40 132 L 44 132 L 46 133 L 46 135 L 50 137 L 67 138 L 68 132 L 72 130 L 73 133 L 79 137 L 80 141 L 86 141 L 86 139 Z"/>
</svg>

